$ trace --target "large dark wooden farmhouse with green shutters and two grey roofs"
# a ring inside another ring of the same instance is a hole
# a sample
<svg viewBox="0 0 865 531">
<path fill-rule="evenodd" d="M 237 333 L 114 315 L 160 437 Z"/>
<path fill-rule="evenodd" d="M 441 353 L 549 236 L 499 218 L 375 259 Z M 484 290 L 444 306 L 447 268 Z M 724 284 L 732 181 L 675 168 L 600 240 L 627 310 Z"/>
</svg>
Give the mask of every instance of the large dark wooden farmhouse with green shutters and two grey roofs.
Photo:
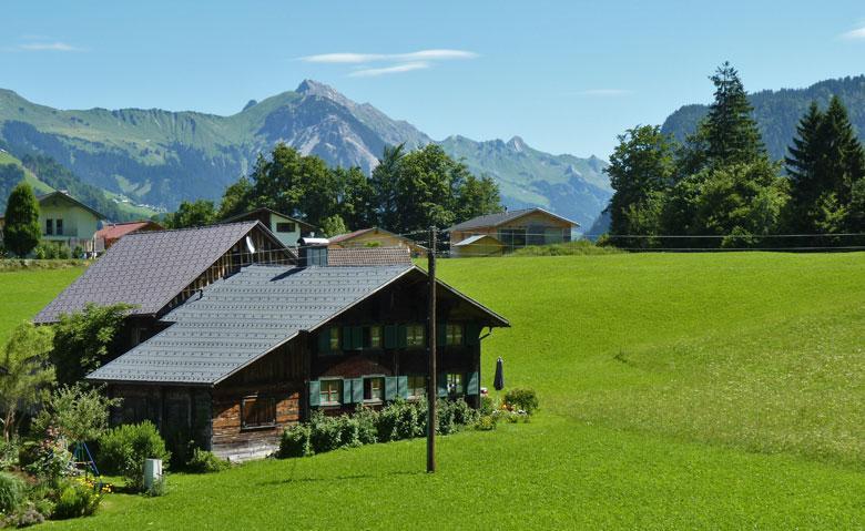
<svg viewBox="0 0 865 531">
<path fill-rule="evenodd" d="M 149 419 L 171 447 L 194 441 L 223 458 L 272 452 L 283 429 L 314 410 L 423 396 L 427 276 L 408 251 L 325 241 L 289 256 L 266 249 L 268 234 L 260 222 L 131 234 L 37 320 L 88 300 L 138 304 L 135 340 L 88 379 L 123 399 L 112 422 Z M 508 321 L 437 288 L 437 392 L 478 406 L 481 339 Z"/>
</svg>

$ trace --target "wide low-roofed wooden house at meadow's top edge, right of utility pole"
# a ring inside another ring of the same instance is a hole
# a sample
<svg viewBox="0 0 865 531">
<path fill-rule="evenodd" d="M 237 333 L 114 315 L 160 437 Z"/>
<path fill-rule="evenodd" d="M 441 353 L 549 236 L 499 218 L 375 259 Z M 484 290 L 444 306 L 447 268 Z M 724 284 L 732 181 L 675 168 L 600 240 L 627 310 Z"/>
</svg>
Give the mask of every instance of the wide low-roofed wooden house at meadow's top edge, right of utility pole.
<svg viewBox="0 0 865 531">
<path fill-rule="evenodd" d="M 527 245 L 549 245 L 571 241 L 571 231 L 580 224 L 543 208 L 523 208 L 478 216 L 448 228 L 451 255 L 459 256 L 465 248 L 478 244 L 474 236 L 491 236 L 505 251 Z M 487 241 L 487 243 L 492 243 Z M 460 249 L 459 247 L 464 247 Z"/>
</svg>

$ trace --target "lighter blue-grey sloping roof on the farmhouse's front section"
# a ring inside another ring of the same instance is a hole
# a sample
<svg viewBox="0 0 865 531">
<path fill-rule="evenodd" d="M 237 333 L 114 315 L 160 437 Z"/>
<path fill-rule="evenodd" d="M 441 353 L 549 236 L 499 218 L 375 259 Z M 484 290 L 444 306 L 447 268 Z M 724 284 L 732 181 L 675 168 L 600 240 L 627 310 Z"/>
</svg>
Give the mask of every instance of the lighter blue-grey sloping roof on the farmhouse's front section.
<svg viewBox="0 0 865 531">
<path fill-rule="evenodd" d="M 217 384 L 413 269 L 410 265 L 245 267 L 165 315 L 162 320 L 173 325 L 88 379 Z"/>
</svg>

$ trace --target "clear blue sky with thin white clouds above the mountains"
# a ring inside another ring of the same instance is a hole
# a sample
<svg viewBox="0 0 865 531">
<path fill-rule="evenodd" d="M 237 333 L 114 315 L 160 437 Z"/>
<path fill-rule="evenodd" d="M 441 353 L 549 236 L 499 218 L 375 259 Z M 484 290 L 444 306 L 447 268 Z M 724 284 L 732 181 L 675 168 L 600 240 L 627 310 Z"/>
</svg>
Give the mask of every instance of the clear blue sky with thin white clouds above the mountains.
<svg viewBox="0 0 865 531">
<path fill-rule="evenodd" d="M 625 127 L 708 101 L 724 60 L 750 91 L 865 72 L 865 4 L 827 3 L 8 0 L 0 88 L 233 114 L 311 78 L 434 139 L 607 157 Z"/>
</svg>

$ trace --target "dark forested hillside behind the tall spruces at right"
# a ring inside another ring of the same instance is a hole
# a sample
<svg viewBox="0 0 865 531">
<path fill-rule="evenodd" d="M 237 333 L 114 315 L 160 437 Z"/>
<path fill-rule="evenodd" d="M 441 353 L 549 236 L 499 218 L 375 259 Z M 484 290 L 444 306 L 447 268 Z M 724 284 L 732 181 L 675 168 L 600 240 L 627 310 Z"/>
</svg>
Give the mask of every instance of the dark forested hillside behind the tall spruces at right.
<svg viewBox="0 0 865 531">
<path fill-rule="evenodd" d="M 844 101 L 853 125 L 859 137 L 865 140 L 865 75 L 821 81 L 807 89 L 762 91 L 749 95 L 772 159 L 781 160 L 787 154 L 787 146 L 796 134 L 796 124 L 811 102 L 816 101 L 825 109 L 833 95 Z M 683 140 L 696 129 L 708 111 L 706 105 L 684 105 L 664 121 L 662 131 Z"/>
</svg>

